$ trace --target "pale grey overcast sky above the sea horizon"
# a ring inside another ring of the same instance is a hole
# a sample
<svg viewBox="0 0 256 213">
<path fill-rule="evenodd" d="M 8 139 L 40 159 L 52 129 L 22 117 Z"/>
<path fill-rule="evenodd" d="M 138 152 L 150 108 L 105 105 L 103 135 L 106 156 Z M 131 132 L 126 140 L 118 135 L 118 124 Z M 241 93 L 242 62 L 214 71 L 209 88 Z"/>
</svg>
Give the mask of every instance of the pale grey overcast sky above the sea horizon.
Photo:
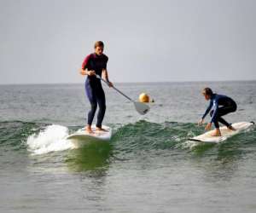
<svg viewBox="0 0 256 213">
<path fill-rule="evenodd" d="M 81 83 L 105 43 L 113 82 L 256 79 L 254 0 L 0 0 L 0 83 Z"/>
</svg>

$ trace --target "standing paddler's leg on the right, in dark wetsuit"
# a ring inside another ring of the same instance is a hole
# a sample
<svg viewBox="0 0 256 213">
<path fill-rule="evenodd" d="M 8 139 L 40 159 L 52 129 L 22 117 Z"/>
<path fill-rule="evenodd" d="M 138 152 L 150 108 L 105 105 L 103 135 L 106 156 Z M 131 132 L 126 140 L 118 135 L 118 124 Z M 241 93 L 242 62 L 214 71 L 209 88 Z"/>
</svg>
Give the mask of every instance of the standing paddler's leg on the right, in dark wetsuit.
<svg viewBox="0 0 256 213">
<path fill-rule="evenodd" d="M 106 98 L 105 98 L 105 93 L 103 89 L 99 90 L 96 94 L 96 101 L 99 105 L 99 112 L 97 116 L 97 124 L 96 127 L 98 130 L 102 130 L 102 121 L 105 116 L 106 112 Z"/>
</svg>

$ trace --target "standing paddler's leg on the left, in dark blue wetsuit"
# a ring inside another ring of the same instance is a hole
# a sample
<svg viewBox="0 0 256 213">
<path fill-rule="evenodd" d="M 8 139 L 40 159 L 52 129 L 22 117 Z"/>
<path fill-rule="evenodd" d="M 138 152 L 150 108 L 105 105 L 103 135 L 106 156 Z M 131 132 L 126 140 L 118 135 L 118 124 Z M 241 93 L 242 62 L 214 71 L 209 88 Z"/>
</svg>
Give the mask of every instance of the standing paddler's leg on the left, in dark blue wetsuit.
<svg viewBox="0 0 256 213">
<path fill-rule="evenodd" d="M 97 108 L 97 101 L 96 101 L 96 93 L 94 89 L 91 88 L 90 84 L 85 84 L 85 91 L 90 101 L 90 112 L 88 112 L 88 119 L 87 119 L 87 127 L 86 130 L 88 132 L 92 132 L 90 126 L 92 124 L 93 118 L 95 116 L 96 108 Z"/>
</svg>

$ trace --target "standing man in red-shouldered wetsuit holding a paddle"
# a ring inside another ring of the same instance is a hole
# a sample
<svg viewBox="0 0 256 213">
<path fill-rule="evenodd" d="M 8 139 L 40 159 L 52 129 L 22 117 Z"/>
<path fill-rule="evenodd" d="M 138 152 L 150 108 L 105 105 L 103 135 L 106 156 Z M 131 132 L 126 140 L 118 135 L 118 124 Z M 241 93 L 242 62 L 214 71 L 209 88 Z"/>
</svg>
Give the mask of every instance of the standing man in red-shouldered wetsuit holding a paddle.
<svg viewBox="0 0 256 213">
<path fill-rule="evenodd" d="M 103 54 L 104 43 L 98 41 L 94 46 L 95 53 L 87 55 L 79 70 L 81 75 L 87 75 L 85 81 L 85 92 L 90 101 L 90 112 L 88 113 L 88 120 L 86 131 L 92 133 L 91 124 L 96 113 L 97 105 L 99 112 L 97 116 L 96 130 L 105 131 L 102 129 L 102 121 L 106 111 L 105 93 L 102 89 L 101 79 L 96 78 L 99 75 L 108 82 L 109 87 L 113 87 L 113 83 L 108 80 L 107 63 L 108 56 Z"/>
</svg>

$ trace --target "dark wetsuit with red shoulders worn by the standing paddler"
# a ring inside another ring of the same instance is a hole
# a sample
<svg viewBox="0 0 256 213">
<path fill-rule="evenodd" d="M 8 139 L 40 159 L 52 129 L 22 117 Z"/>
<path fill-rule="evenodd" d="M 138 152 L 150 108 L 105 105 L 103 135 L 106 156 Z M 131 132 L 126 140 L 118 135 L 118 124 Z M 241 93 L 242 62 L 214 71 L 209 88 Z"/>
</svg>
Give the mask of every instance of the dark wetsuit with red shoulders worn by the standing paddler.
<svg viewBox="0 0 256 213">
<path fill-rule="evenodd" d="M 82 68 L 84 70 L 87 68 L 89 71 L 94 70 L 97 75 L 102 76 L 102 70 L 107 69 L 107 63 L 107 55 L 90 54 L 84 59 Z M 102 128 L 102 121 L 106 111 L 106 99 L 101 79 L 96 78 L 96 76 L 88 76 L 85 81 L 85 92 L 91 107 L 88 113 L 87 124 L 92 124 L 98 104 L 100 110 L 97 116 L 96 127 Z"/>
</svg>

